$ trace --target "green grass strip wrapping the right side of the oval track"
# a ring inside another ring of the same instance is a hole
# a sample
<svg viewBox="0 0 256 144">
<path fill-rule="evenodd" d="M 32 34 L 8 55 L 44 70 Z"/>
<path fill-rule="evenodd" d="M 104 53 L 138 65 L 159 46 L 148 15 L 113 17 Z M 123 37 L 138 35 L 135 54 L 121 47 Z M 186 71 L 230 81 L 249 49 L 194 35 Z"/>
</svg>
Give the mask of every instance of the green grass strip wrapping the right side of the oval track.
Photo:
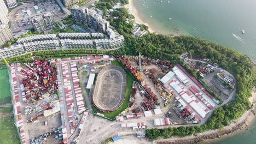
<svg viewBox="0 0 256 144">
<path fill-rule="evenodd" d="M 113 61 L 112 65 L 118 65 L 120 67 L 123 67 L 123 65 L 118 61 Z M 117 110 L 113 112 L 101 112 L 100 110 L 96 109 L 96 107 L 92 104 L 92 110 L 94 111 L 94 113 L 97 113 L 97 112 L 101 113 L 104 115 L 104 117 L 110 118 L 114 121 L 115 117 L 118 116 L 119 113 L 123 112 L 127 107 L 129 107 L 133 77 L 129 74 L 128 71 L 126 71 L 126 69 L 125 69 L 125 72 L 126 72 L 127 85 L 126 85 L 125 100 L 123 105 L 121 105 Z"/>
</svg>

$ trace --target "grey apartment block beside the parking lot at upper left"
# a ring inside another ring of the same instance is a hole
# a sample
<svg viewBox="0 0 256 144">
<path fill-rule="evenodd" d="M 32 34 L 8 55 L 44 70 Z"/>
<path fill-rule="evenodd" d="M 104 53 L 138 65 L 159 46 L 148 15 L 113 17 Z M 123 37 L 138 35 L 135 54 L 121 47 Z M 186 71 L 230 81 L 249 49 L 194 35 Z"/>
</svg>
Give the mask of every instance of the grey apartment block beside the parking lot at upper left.
<svg viewBox="0 0 256 144">
<path fill-rule="evenodd" d="M 47 29 L 55 27 L 53 15 L 51 13 L 46 13 L 42 16 L 37 17 L 32 20 L 34 30 L 37 32 L 43 32 Z"/>
</svg>

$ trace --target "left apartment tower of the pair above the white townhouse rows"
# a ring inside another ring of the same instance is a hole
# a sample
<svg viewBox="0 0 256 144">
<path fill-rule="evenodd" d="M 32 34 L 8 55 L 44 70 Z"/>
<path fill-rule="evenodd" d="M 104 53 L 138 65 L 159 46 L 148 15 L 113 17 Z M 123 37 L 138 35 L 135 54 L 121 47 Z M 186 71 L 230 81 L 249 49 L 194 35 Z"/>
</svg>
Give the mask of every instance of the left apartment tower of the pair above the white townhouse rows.
<svg viewBox="0 0 256 144">
<path fill-rule="evenodd" d="M 86 24 L 87 23 L 87 17 L 86 14 L 88 13 L 88 8 L 83 8 L 78 5 L 73 5 L 72 8 L 70 9 L 72 19 L 75 20 L 76 22 Z"/>
</svg>

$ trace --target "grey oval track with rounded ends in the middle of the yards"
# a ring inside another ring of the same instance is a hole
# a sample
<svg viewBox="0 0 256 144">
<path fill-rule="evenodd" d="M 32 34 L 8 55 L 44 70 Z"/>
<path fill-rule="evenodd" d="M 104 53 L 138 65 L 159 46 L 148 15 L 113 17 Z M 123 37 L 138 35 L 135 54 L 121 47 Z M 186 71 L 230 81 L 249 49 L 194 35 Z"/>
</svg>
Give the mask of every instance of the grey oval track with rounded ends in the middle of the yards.
<svg viewBox="0 0 256 144">
<path fill-rule="evenodd" d="M 92 101 L 103 112 L 115 111 L 123 103 L 126 91 L 126 73 L 118 66 L 107 66 L 97 75 Z"/>
</svg>

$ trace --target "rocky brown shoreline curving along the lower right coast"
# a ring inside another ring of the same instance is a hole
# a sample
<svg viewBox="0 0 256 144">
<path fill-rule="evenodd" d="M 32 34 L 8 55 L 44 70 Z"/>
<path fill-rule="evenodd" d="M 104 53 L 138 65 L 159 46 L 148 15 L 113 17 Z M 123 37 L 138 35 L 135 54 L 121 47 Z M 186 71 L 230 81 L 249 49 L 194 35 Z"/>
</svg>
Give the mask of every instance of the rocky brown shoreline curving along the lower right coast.
<svg viewBox="0 0 256 144">
<path fill-rule="evenodd" d="M 255 117 L 255 104 L 256 104 L 256 93 L 252 93 L 252 97 L 249 98 L 249 101 L 253 104 L 253 108 L 247 110 L 240 118 L 234 120 L 230 125 L 223 128 L 223 130 L 209 130 L 203 133 L 197 134 L 196 136 L 185 136 L 182 138 L 173 137 L 170 139 L 160 139 L 156 140 L 156 144 L 183 144 L 183 143 L 207 143 L 213 142 L 220 139 L 225 139 L 228 136 L 232 136 L 241 131 L 248 130 L 252 126 Z"/>
</svg>

